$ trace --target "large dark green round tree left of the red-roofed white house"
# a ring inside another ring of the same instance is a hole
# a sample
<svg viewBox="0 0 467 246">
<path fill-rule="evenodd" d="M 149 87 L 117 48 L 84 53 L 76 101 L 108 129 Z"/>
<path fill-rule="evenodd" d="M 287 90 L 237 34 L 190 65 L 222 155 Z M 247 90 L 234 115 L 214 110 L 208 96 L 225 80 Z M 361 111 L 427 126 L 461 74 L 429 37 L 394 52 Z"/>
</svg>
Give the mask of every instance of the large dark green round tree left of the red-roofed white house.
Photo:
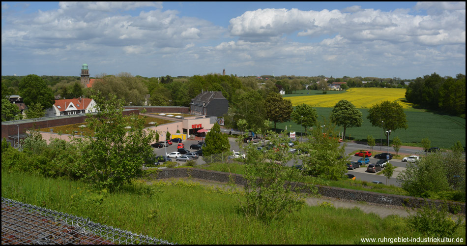
<svg viewBox="0 0 467 246">
<path fill-rule="evenodd" d="M 35 74 L 29 74 L 24 77 L 19 87 L 20 96 L 23 97 L 26 106 L 30 107 L 32 103 L 38 103 L 42 108 L 51 108 L 55 103 L 52 89 L 47 87 L 47 83 L 41 77 Z"/>
</svg>

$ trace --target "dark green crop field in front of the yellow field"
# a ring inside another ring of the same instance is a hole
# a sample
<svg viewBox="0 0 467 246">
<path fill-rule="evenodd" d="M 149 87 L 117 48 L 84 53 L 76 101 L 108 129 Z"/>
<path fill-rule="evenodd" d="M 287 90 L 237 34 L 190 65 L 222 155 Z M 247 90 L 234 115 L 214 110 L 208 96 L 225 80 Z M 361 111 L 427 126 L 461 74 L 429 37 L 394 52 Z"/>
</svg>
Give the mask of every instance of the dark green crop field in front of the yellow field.
<svg viewBox="0 0 467 246">
<path fill-rule="evenodd" d="M 371 89 L 371 88 L 368 88 Z M 321 92 L 321 91 L 310 91 L 310 92 Z M 339 95 L 345 95 L 341 93 Z M 346 99 L 346 97 L 342 97 Z M 329 118 L 333 108 L 331 107 L 316 107 L 318 115 Z M 375 139 L 379 139 L 382 136 L 383 142 L 386 140 L 380 127 L 372 126 L 369 120 L 367 108 L 359 108 L 363 115 L 363 124 L 361 127 L 347 128 L 346 137 L 354 140 L 366 140 L 368 135 L 372 135 Z M 466 120 L 460 117 L 449 116 L 445 114 L 439 114 L 434 112 L 428 112 L 425 110 L 415 109 L 413 107 L 404 110 L 407 116 L 407 122 L 409 125 L 408 129 L 397 129 L 391 132 L 390 141 L 398 136 L 402 142 L 406 145 L 421 146 L 420 142 L 423 138 L 428 137 L 431 141 L 431 146 L 440 148 L 450 148 L 457 141 L 466 146 Z M 292 125 L 292 130 L 303 132 L 303 127 L 299 126 L 294 122 L 277 123 L 277 128 L 284 130 L 286 125 Z M 288 127 L 288 129 L 290 129 Z M 342 127 L 336 128 L 338 131 L 343 131 Z"/>
</svg>

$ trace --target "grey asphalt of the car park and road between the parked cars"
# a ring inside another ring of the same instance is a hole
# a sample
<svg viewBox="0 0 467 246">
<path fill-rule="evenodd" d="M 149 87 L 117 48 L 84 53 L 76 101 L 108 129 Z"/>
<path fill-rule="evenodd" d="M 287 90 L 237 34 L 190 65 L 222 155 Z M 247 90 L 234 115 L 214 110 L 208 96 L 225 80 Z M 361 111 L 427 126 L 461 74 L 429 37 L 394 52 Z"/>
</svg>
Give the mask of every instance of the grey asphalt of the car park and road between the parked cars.
<svg viewBox="0 0 467 246">
<path fill-rule="evenodd" d="M 229 132 L 229 130 L 226 130 L 226 129 L 222 129 L 223 132 Z M 234 133 L 237 133 L 237 132 L 234 132 Z M 239 132 L 238 132 L 239 133 Z M 229 138 L 229 142 L 230 142 L 230 150 L 231 151 L 235 151 L 235 152 L 238 152 L 239 151 L 239 148 L 238 148 L 238 144 L 236 143 L 236 138 L 234 137 L 230 137 Z M 183 144 L 185 144 L 185 149 L 186 150 L 190 150 L 190 145 L 192 144 L 195 144 L 195 143 L 198 143 L 198 141 L 196 140 L 185 140 L 183 141 Z M 263 143 L 256 143 L 257 145 L 262 145 Z M 342 143 L 343 144 L 343 143 Z M 381 149 L 381 151 L 379 151 L 379 149 Z M 153 148 L 154 150 L 154 153 L 156 155 L 162 155 L 162 156 L 166 156 L 166 153 L 169 154 L 169 153 L 172 153 L 172 152 L 176 152 L 177 151 L 177 143 L 174 143 L 172 146 L 168 146 L 167 147 L 167 150 L 166 148 L 161 148 L 161 149 L 156 149 L 156 148 Z M 359 143 L 354 143 L 354 142 L 348 142 L 347 143 L 347 146 L 346 146 L 346 149 L 345 149 L 345 153 L 346 154 L 349 154 L 351 152 L 354 152 L 356 150 L 369 150 L 371 151 L 371 148 L 368 146 L 368 145 L 364 145 L 364 144 L 359 144 Z M 382 147 L 380 148 L 379 146 L 374 146 L 373 147 L 373 152 L 385 152 L 387 151 L 388 148 L 387 147 Z M 191 152 L 194 152 L 196 150 L 190 150 Z M 392 153 L 392 154 L 395 154 L 394 152 L 394 149 L 392 147 L 389 147 L 389 153 Z M 417 147 L 408 147 L 408 146 L 403 146 L 401 147 L 400 151 L 399 151 L 399 154 L 403 154 L 403 155 L 412 155 L 412 154 L 417 154 L 417 155 L 423 155 L 423 150 L 422 148 L 417 148 Z M 357 156 L 349 156 L 349 160 L 350 161 L 357 161 L 360 157 L 357 157 Z M 370 163 L 376 163 L 379 159 L 376 159 L 376 158 L 373 158 L 370 157 Z M 175 158 L 173 158 L 173 161 L 175 161 Z M 198 164 L 203 164 L 204 161 L 202 160 L 202 158 L 199 158 L 198 160 L 196 160 L 196 162 Z M 396 160 L 396 159 L 391 159 L 390 160 L 391 164 L 396 166 L 396 169 L 394 170 L 394 174 L 392 175 L 392 177 L 387 181 L 387 184 L 393 184 L 395 186 L 400 186 L 399 183 L 397 183 L 397 175 L 404 171 L 406 169 L 406 162 L 402 162 L 400 160 Z M 179 162 L 179 163 L 183 163 L 183 162 Z M 292 166 L 294 164 L 294 161 L 291 160 L 287 163 L 288 166 Z M 299 160 L 298 161 L 298 164 L 301 164 L 301 161 Z M 367 182 L 372 182 L 372 181 L 380 181 L 384 184 L 386 184 L 386 177 L 384 177 L 384 175 L 382 175 L 382 172 L 379 171 L 377 174 L 374 174 L 374 173 L 368 173 L 366 172 L 366 167 L 360 167 L 360 168 L 356 168 L 354 170 L 348 170 L 348 173 L 349 174 L 353 174 L 355 176 L 356 179 L 358 180 L 363 180 L 363 181 L 367 181 Z"/>
</svg>

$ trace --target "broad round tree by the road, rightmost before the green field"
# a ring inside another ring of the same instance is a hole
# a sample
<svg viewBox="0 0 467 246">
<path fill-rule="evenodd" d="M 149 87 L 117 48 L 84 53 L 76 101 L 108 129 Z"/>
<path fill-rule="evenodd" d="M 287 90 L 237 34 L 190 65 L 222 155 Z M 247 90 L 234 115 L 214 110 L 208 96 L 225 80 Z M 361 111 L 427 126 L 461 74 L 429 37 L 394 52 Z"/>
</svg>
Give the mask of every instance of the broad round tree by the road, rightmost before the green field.
<svg viewBox="0 0 467 246">
<path fill-rule="evenodd" d="M 381 127 L 381 121 L 384 121 L 382 128 L 386 136 L 386 143 L 391 132 L 399 128 L 407 129 L 409 127 L 404 109 L 396 101 L 390 102 L 386 100 L 373 105 L 368 110 L 368 113 L 367 119 L 370 120 L 373 126 Z"/>
</svg>

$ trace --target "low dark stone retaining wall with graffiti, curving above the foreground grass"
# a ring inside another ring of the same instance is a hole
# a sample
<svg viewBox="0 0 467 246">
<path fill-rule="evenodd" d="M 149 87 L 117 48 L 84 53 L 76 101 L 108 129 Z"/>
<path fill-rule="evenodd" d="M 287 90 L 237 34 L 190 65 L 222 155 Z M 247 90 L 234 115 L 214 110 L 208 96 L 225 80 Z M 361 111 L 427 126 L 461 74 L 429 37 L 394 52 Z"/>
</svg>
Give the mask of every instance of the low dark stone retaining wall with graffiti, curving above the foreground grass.
<svg viewBox="0 0 467 246">
<path fill-rule="evenodd" d="M 159 169 L 158 173 L 151 173 L 148 176 L 152 179 L 168 179 L 168 178 L 196 178 L 202 180 L 209 180 L 215 182 L 227 183 L 231 179 L 234 180 L 235 184 L 245 185 L 246 181 L 239 174 L 229 174 L 225 172 L 210 171 L 197 168 L 167 168 Z M 412 196 L 401 196 L 392 194 L 383 194 L 364 190 L 354 190 L 330 186 L 318 186 L 318 193 L 326 197 L 334 197 L 353 201 L 364 201 L 368 203 L 383 204 L 383 205 L 396 205 L 405 206 L 409 208 L 419 208 L 425 203 L 434 203 L 438 207 L 445 201 L 441 200 L 430 200 Z M 302 190 L 304 192 L 310 192 L 310 190 Z M 461 212 L 466 214 L 466 204 L 461 202 L 447 202 L 450 212 Z"/>
</svg>

